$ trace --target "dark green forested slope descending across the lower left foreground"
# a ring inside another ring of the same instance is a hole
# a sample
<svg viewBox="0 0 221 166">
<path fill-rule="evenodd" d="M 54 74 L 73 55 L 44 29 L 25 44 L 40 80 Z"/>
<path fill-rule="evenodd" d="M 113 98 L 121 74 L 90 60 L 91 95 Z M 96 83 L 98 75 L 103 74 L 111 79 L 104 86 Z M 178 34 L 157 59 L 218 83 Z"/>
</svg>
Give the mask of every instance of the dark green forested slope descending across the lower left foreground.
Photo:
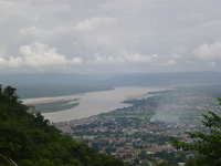
<svg viewBox="0 0 221 166">
<path fill-rule="evenodd" d="M 29 113 L 15 89 L 0 85 L 0 166 L 120 166 L 113 156 L 95 152 L 86 144 L 63 136 L 38 113 Z"/>
</svg>

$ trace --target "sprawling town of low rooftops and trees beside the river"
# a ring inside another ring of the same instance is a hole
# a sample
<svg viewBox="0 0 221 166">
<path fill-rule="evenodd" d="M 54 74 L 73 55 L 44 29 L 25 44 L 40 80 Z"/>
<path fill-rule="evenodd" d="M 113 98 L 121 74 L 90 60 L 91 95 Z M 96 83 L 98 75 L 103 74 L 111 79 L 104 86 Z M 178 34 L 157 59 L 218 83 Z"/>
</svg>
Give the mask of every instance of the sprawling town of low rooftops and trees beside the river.
<svg viewBox="0 0 221 166">
<path fill-rule="evenodd" d="M 53 125 L 64 135 L 119 157 L 127 165 L 181 165 L 196 153 L 177 151 L 169 144 L 170 137 L 191 142 L 183 132 L 207 133 L 201 114 L 209 110 L 221 113 L 217 93 L 212 92 L 218 90 L 198 86 L 151 92 L 125 101 L 133 106 Z"/>
</svg>

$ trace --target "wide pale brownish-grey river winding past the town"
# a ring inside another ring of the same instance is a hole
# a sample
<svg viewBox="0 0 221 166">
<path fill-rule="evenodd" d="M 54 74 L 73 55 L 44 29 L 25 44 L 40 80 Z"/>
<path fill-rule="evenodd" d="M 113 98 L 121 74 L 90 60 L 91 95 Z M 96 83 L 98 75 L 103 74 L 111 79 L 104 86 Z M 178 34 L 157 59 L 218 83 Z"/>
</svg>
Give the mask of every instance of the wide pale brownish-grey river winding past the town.
<svg viewBox="0 0 221 166">
<path fill-rule="evenodd" d="M 64 122 L 88 117 L 101 113 L 114 111 L 116 108 L 127 107 L 129 104 L 122 103 L 128 97 L 140 97 L 143 94 L 155 91 L 164 91 L 169 87 L 138 87 L 138 86 L 124 86 L 115 87 L 110 91 L 90 92 L 76 95 L 66 95 L 57 97 L 41 97 L 41 98 L 27 98 L 23 100 L 24 104 L 33 102 L 42 102 L 49 100 L 62 100 L 62 98 L 80 98 L 76 107 L 61 111 L 43 113 L 44 118 L 50 122 Z M 148 96 L 148 95 L 147 95 Z"/>
</svg>

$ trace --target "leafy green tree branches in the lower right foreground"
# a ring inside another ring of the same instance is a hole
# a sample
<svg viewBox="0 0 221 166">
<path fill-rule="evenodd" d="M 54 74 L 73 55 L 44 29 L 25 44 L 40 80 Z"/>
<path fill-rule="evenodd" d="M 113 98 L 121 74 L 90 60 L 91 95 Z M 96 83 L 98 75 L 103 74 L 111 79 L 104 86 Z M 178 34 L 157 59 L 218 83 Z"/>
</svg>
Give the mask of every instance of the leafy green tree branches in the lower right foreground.
<svg viewBox="0 0 221 166">
<path fill-rule="evenodd" d="M 221 98 L 218 98 L 221 104 Z M 221 165 L 221 117 L 215 113 L 208 111 L 209 115 L 202 114 L 204 121 L 202 124 L 210 129 L 210 134 L 202 132 L 190 133 L 185 132 L 194 143 L 178 142 L 171 137 L 171 145 L 177 149 L 197 151 L 198 156 L 194 159 L 188 160 L 187 166 L 220 166 Z"/>
</svg>

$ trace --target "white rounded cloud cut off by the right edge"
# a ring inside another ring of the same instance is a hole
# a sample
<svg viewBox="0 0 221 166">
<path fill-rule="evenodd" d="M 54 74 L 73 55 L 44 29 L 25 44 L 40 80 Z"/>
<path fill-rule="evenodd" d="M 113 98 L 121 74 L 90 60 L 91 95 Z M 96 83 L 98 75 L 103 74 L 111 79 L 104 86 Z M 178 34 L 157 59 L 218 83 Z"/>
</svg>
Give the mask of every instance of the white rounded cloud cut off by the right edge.
<svg viewBox="0 0 221 166">
<path fill-rule="evenodd" d="M 201 44 L 193 51 L 193 55 L 202 61 L 221 59 L 221 43 Z"/>
</svg>

